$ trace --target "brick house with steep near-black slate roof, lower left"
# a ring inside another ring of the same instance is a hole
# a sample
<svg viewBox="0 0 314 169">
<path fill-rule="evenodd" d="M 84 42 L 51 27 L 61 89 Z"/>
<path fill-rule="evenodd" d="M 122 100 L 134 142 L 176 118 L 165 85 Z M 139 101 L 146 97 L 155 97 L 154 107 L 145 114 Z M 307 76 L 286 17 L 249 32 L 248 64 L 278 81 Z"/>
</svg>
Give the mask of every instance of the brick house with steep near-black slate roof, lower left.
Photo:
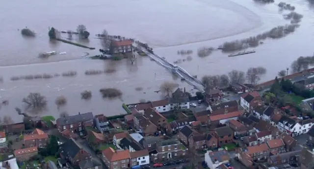
<svg viewBox="0 0 314 169">
<path fill-rule="evenodd" d="M 69 161 L 73 166 L 77 166 L 78 162 L 90 157 L 90 154 L 74 139 L 60 145 L 59 153 L 62 159 Z"/>
</svg>

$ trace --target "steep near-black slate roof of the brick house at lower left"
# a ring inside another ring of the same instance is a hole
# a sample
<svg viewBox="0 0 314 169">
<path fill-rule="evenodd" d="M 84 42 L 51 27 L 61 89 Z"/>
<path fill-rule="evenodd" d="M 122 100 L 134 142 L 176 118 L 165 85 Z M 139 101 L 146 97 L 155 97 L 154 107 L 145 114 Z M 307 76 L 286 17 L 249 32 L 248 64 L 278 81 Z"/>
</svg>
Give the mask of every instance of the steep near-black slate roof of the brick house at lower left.
<svg viewBox="0 0 314 169">
<path fill-rule="evenodd" d="M 79 150 L 82 148 L 74 139 L 69 139 L 64 144 L 60 145 L 61 147 L 61 154 L 63 156 L 69 155 L 71 158 L 75 158 L 78 154 Z"/>
</svg>

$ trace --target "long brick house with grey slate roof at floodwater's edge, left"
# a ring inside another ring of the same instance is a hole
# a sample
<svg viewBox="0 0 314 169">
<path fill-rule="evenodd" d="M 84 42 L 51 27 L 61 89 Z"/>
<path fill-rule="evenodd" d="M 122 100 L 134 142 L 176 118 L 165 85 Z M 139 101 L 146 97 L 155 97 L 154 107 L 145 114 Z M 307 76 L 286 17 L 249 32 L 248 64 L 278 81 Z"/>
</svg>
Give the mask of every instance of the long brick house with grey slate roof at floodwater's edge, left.
<svg viewBox="0 0 314 169">
<path fill-rule="evenodd" d="M 78 115 L 62 117 L 56 120 L 56 126 L 59 132 L 66 129 L 72 132 L 79 132 L 83 127 L 94 125 L 94 115 L 92 112 L 89 113 L 78 113 Z"/>
</svg>

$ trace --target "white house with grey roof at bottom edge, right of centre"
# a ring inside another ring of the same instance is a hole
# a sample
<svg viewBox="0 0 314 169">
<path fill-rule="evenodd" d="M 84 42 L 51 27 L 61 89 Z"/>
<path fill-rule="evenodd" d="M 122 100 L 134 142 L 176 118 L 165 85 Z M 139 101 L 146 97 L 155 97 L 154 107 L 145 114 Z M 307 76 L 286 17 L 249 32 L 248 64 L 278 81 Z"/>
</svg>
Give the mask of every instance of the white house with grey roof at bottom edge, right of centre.
<svg viewBox="0 0 314 169">
<path fill-rule="evenodd" d="M 209 169 L 216 169 L 222 164 L 229 163 L 229 153 L 224 149 L 218 151 L 208 150 L 205 153 L 205 162 Z"/>
</svg>

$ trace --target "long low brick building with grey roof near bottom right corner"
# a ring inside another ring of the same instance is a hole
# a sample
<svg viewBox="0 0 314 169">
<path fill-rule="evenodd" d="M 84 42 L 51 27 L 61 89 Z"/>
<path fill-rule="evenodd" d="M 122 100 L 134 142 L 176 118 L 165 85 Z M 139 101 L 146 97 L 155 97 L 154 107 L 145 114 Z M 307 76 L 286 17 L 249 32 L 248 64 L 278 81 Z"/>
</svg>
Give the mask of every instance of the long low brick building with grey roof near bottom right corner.
<svg viewBox="0 0 314 169">
<path fill-rule="evenodd" d="M 277 155 L 271 155 L 267 162 L 271 166 L 279 166 L 283 164 L 298 164 L 301 150 L 285 152 Z"/>
</svg>

